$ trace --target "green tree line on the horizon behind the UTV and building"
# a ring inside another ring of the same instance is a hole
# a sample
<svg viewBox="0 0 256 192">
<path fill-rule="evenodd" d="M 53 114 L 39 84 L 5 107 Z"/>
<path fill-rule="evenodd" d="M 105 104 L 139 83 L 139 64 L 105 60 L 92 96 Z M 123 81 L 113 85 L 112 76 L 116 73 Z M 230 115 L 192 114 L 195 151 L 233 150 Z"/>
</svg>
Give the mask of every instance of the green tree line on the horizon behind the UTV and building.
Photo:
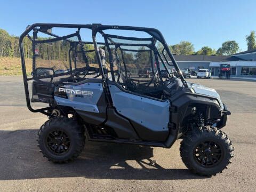
<svg viewBox="0 0 256 192">
<path fill-rule="evenodd" d="M 251 33 L 246 36 L 248 51 L 256 49 L 255 38 L 255 31 L 251 31 Z M 65 44 L 63 42 L 38 44 L 36 49 L 38 49 L 41 59 L 58 58 L 68 60 L 69 43 Z M 194 45 L 188 41 L 181 41 L 179 44 L 170 45 L 169 47 L 172 53 L 177 55 L 230 55 L 235 54 L 239 49 L 239 45 L 236 41 L 226 41 L 222 43 L 222 46 L 217 51 L 210 46 L 203 46 L 200 50 L 195 51 Z M 85 49 L 90 50 L 92 47 L 85 47 Z M 23 39 L 23 50 L 25 58 L 33 57 L 31 41 L 28 38 Z M 4 29 L 0 29 L 0 57 L 20 57 L 19 37 L 10 35 Z M 91 59 L 94 59 L 94 55 L 91 55 Z"/>
</svg>

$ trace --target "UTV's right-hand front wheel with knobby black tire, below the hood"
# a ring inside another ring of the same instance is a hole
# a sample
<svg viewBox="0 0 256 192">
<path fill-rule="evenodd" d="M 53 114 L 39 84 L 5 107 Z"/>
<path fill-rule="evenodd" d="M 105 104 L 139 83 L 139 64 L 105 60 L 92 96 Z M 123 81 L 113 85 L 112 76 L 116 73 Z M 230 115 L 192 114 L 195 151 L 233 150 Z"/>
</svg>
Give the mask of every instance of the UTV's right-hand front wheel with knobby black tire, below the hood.
<svg viewBox="0 0 256 192">
<path fill-rule="evenodd" d="M 187 132 L 181 142 L 180 155 L 189 170 L 211 176 L 227 169 L 233 150 L 224 132 L 216 127 L 203 126 Z"/>
</svg>

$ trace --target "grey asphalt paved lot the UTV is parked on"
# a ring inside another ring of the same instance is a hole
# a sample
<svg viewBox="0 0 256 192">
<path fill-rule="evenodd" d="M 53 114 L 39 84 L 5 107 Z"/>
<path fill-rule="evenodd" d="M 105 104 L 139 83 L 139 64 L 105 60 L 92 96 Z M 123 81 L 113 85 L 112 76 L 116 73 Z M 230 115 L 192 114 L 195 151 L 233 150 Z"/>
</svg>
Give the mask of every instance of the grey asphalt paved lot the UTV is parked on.
<svg viewBox="0 0 256 192">
<path fill-rule="evenodd" d="M 216 89 L 232 113 L 223 131 L 235 157 L 212 178 L 186 169 L 180 141 L 171 149 L 87 142 L 75 162 L 48 162 L 36 141 L 47 118 L 27 109 L 20 77 L 0 77 L 0 191 L 255 191 L 256 82 L 189 81 Z"/>
</svg>

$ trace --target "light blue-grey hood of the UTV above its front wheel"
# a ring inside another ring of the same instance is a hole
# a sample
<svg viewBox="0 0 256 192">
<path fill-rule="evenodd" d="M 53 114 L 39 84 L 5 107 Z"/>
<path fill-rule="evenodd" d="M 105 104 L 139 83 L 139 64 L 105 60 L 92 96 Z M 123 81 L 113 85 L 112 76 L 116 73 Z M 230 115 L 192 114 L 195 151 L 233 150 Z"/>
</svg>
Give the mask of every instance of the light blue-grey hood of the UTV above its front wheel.
<svg viewBox="0 0 256 192">
<path fill-rule="evenodd" d="M 224 108 L 223 103 L 220 100 L 220 95 L 217 93 L 217 91 L 215 91 L 214 89 L 211 89 L 209 87 L 195 84 L 195 83 L 188 83 L 188 84 L 189 84 L 190 88 L 192 88 L 195 91 L 195 93 L 216 98 L 218 100 L 218 102 L 220 103 L 221 109 Z"/>
</svg>

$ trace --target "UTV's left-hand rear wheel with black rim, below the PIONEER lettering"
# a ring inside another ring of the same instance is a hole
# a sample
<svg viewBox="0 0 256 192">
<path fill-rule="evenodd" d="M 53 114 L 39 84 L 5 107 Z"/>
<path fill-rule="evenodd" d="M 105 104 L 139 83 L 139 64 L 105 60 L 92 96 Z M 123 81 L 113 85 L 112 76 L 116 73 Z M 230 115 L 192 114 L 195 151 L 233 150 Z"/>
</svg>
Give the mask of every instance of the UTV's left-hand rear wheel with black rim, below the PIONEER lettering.
<svg viewBox="0 0 256 192">
<path fill-rule="evenodd" d="M 51 118 L 38 132 L 38 146 L 44 157 L 52 162 L 65 163 L 75 159 L 84 145 L 83 127 L 67 117 Z"/>
</svg>

